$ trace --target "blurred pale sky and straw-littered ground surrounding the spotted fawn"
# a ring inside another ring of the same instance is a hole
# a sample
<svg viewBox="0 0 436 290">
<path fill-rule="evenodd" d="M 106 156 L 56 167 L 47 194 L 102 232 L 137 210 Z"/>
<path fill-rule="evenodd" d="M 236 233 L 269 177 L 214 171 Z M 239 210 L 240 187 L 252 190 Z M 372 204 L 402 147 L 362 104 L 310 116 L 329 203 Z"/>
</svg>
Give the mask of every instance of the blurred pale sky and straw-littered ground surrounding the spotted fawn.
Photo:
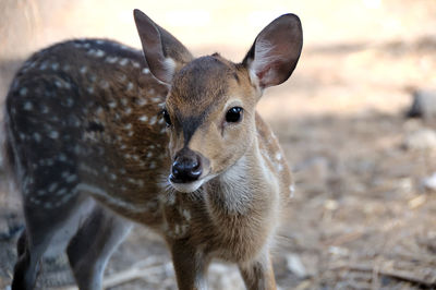
<svg viewBox="0 0 436 290">
<path fill-rule="evenodd" d="M 233 61 L 275 17 L 298 14 L 298 68 L 258 105 L 296 183 L 275 249 L 280 288 L 436 288 L 436 1 L 2 0 L 0 100 L 25 58 L 50 44 L 98 37 L 140 48 L 134 8 L 195 55 Z M 4 183 L 0 289 L 22 228 L 19 198 Z M 210 288 L 243 289 L 234 269 L 214 264 Z M 175 289 L 165 245 L 143 227 L 106 276 L 108 289 Z M 60 257 L 46 262 L 38 287 L 72 282 Z"/>
</svg>

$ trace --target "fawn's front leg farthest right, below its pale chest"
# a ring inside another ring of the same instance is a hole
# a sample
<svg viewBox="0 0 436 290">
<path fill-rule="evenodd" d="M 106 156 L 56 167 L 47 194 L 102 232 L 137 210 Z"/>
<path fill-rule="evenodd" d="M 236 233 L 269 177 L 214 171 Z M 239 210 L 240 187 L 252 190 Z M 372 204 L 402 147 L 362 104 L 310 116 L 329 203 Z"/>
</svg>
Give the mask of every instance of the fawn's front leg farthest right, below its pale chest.
<svg viewBox="0 0 436 290">
<path fill-rule="evenodd" d="M 276 290 L 276 278 L 269 252 L 259 254 L 257 258 L 239 265 L 245 287 L 249 290 Z"/>
</svg>

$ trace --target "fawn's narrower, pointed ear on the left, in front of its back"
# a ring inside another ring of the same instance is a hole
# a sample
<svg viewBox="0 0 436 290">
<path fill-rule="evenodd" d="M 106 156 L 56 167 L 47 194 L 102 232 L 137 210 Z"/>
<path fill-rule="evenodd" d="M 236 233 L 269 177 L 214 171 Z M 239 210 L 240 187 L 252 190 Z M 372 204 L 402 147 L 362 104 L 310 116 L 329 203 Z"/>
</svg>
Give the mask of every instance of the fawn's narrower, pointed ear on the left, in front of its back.
<svg viewBox="0 0 436 290">
<path fill-rule="evenodd" d="M 150 72 L 159 81 L 171 83 L 174 73 L 193 59 L 191 52 L 141 10 L 135 9 L 133 16 Z"/>
</svg>

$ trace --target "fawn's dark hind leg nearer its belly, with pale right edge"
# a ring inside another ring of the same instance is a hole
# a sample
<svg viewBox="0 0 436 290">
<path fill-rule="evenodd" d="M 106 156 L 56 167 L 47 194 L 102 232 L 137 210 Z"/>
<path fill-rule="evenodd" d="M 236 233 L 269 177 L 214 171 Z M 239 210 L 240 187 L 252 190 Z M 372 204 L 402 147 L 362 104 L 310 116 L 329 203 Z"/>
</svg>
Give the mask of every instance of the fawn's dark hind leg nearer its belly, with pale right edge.
<svg viewBox="0 0 436 290">
<path fill-rule="evenodd" d="M 96 206 L 71 240 L 66 253 L 81 290 L 101 289 L 106 265 L 133 223 Z"/>
</svg>

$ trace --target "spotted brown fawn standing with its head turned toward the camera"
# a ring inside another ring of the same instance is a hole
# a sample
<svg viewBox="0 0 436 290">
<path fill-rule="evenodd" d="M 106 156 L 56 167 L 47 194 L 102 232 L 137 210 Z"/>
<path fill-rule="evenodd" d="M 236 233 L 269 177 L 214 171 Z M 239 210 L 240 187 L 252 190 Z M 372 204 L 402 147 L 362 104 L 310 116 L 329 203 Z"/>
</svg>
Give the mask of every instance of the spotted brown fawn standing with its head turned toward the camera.
<svg viewBox="0 0 436 290">
<path fill-rule="evenodd" d="M 164 237 L 179 289 L 205 289 L 214 258 L 237 263 L 247 289 L 276 289 L 269 246 L 293 186 L 255 106 L 296 65 L 299 17 L 272 21 L 241 63 L 194 58 L 140 10 L 134 19 L 143 51 L 57 44 L 11 85 L 5 153 L 26 222 L 12 289 L 33 289 L 53 249 L 80 289 L 100 289 L 131 221 Z"/>
</svg>

